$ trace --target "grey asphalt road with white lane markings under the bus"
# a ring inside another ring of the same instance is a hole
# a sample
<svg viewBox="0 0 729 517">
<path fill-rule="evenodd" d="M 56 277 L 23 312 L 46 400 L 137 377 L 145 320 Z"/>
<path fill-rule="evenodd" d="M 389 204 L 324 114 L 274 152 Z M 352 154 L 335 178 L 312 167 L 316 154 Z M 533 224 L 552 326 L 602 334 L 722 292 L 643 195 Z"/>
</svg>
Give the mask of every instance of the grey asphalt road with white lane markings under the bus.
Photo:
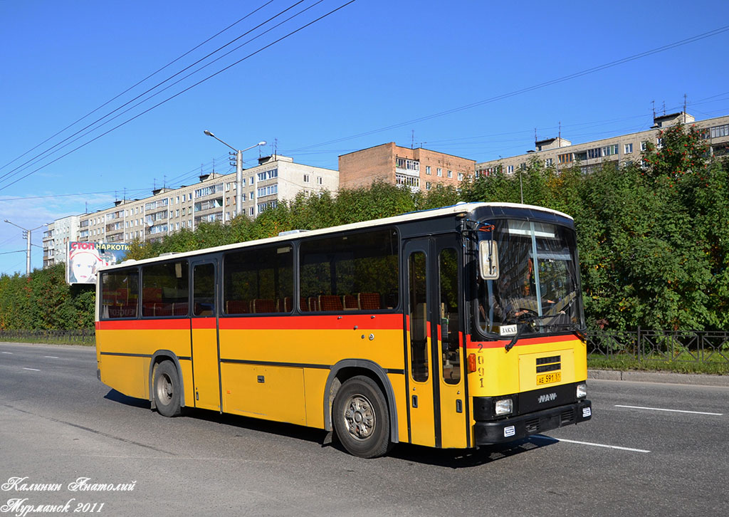
<svg viewBox="0 0 729 517">
<path fill-rule="evenodd" d="M 315 429 L 166 419 L 97 381 L 93 348 L 0 343 L 0 517 L 12 499 L 102 516 L 728 514 L 729 388 L 588 386 L 593 420 L 548 437 L 364 460 Z M 71 490 L 79 478 L 133 489 Z"/>
</svg>

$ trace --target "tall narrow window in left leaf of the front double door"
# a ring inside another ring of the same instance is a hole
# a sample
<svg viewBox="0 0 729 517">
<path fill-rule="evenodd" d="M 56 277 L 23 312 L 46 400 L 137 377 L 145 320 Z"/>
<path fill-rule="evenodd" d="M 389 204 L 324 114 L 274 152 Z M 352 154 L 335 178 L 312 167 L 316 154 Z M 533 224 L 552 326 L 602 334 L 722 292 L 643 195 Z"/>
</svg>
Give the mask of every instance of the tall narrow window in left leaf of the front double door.
<svg viewBox="0 0 729 517">
<path fill-rule="evenodd" d="M 428 303 L 426 290 L 426 257 L 413 252 L 408 260 L 410 282 L 410 353 L 413 380 L 428 380 Z"/>
</svg>

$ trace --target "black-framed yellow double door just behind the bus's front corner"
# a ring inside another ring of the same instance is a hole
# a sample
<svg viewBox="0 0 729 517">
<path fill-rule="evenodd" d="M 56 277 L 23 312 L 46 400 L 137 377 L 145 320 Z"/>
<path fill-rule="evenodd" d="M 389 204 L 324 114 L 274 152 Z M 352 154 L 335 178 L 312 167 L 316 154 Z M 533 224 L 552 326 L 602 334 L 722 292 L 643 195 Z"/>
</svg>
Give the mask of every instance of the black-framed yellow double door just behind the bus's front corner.
<svg viewBox="0 0 729 517">
<path fill-rule="evenodd" d="M 403 253 L 410 441 L 468 446 L 461 246 L 456 236 L 408 241 Z"/>
</svg>

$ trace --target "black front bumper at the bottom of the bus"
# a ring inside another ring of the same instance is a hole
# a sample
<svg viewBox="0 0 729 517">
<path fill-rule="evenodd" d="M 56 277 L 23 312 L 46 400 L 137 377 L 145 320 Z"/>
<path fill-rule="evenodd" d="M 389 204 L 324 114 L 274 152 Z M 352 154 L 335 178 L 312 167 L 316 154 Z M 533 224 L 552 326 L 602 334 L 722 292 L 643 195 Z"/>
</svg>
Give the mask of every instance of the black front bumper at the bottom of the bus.
<svg viewBox="0 0 729 517">
<path fill-rule="evenodd" d="M 504 420 L 477 421 L 474 429 L 476 445 L 485 446 L 519 440 L 569 424 L 580 424 L 591 418 L 592 403 L 589 400 L 580 400 L 577 403 L 512 416 Z"/>
</svg>

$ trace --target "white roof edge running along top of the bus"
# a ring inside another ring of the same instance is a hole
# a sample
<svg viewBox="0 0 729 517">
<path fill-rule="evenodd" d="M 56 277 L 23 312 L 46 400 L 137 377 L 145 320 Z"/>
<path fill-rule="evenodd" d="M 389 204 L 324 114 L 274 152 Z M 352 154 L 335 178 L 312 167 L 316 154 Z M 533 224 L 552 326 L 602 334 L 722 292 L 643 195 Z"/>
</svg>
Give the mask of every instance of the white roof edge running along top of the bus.
<svg viewBox="0 0 729 517">
<path fill-rule="evenodd" d="M 332 226 L 330 228 L 320 228 L 319 230 L 305 230 L 300 233 L 287 233 L 286 235 L 279 235 L 276 237 L 268 237 L 268 238 L 260 238 L 260 239 L 256 239 L 255 241 L 243 241 L 243 242 L 236 242 L 233 244 L 225 244 L 223 246 L 215 246 L 213 248 L 195 249 L 191 252 L 163 253 L 159 257 L 152 257 L 152 258 L 143 259 L 143 260 L 133 260 L 133 259 L 125 260 L 124 262 L 119 263 L 119 264 L 107 265 L 104 268 L 101 268 L 99 271 L 108 271 L 111 269 L 122 268 L 122 267 L 130 266 L 130 265 L 155 263 L 155 262 L 160 262 L 163 260 L 170 260 L 173 258 L 179 259 L 179 258 L 195 257 L 196 255 L 199 255 L 199 254 L 225 252 L 230 249 L 239 249 L 242 247 L 256 246 L 259 244 L 273 244 L 273 243 L 276 243 L 279 241 L 291 241 L 292 238 L 320 236 L 320 235 L 327 235 L 328 233 L 338 233 L 338 232 L 347 231 L 347 230 L 357 230 L 359 228 L 371 228 L 373 226 L 394 225 L 394 224 L 402 223 L 402 222 L 418 221 L 418 220 L 422 220 L 422 219 L 431 219 L 434 217 L 443 217 L 443 216 L 449 215 L 449 214 L 459 214 L 461 212 L 471 212 L 471 211 L 474 211 L 475 209 L 486 208 L 489 206 L 494 207 L 494 208 L 513 208 L 513 209 L 542 211 L 547 214 L 554 214 L 554 215 L 557 215 L 560 217 L 565 217 L 566 219 L 573 220 L 571 216 L 564 214 L 561 211 L 546 209 L 543 206 L 523 205 L 520 203 L 458 203 L 458 204 L 455 204 L 452 206 L 444 206 L 443 208 L 439 208 L 439 209 L 413 211 L 413 212 L 408 212 L 407 214 L 396 215 L 394 217 L 384 217 L 383 219 L 370 219 L 368 221 L 352 222 L 352 223 L 349 223 L 348 225 Z"/>
</svg>

